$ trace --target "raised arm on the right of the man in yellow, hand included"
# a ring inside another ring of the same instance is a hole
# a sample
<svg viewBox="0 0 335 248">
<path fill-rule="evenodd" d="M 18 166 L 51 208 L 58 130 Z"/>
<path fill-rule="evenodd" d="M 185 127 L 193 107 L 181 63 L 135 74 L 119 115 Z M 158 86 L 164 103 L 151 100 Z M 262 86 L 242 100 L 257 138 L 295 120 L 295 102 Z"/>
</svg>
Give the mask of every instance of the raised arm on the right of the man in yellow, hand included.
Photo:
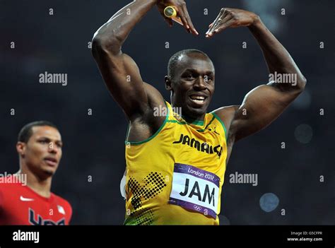
<svg viewBox="0 0 335 248">
<path fill-rule="evenodd" d="M 223 8 L 209 25 L 206 37 L 225 28 L 247 26 L 256 38 L 269 68 L 269 83 L 259 85 L 245 96 L 240 106 L 218 110 L 218 115 L 231 113 L 229 135 L 234 141 L 263 129 L 273 122 L 305 88 L 306 78 L 288 51 L 271 34 L 256 14 L 236 8 Z M 225 118 L 225 117 L 223 117 Z"/>
</svg>

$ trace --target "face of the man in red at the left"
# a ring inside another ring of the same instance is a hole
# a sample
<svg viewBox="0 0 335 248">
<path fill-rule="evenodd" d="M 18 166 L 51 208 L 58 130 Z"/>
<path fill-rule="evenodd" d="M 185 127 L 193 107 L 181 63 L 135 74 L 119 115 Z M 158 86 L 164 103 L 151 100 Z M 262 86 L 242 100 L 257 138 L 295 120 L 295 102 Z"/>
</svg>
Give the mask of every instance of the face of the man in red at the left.
<svg viewBox="0 0 335 248">
<path fill-rule="evenodd" d="M 23 165 L 40 178 L 54 175 L 61 160 L 61 134 L 52 126 L 34 126 L 27 143 L 18 142 Z"/>
</svg>

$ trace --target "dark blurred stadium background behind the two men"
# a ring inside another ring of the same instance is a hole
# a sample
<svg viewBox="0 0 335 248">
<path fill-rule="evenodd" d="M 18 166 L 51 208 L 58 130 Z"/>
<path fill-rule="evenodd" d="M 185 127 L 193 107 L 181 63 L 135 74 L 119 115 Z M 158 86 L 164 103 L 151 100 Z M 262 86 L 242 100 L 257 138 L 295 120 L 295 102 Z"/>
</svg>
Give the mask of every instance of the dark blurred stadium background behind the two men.
<svg viewBox="0 0 335 248">
<path fill-rule="evenodd" d="M 119 225 L 124 220 L 119 181 L 125 167 L 127 121 L 105 88 L 88 42 L 100 25 L 129 2 L 0 1 L 1 173 L 18 170 L 15 144 L 23 125 L 40 119 L 57 124 L 64 155 L 52 191 L 70 201 L 74 208 L 71 223 L 76 225 Z M 216 66 L 216 93 L 208 112 L 240 104 L 249 90 L 268 81 L 263 56 L 247 28 L 228 29 L 211 40 L 204 38 L 221 7 L 259 14 L 307 78 L 305 92 L 276 122 L 235 145 L 225 173 L 221 224 L 334 225 L 331 18 L 335 2 L 189 0 L 187 6 L 201 37 L 187 34 L 177 23 L 168 28 L 153 8 L 123 47 L 139 65 L 143 80 L 158 88 L 165 100 L 170 102 L 163 83 L 167 61 L 186 48 L 201 49 Z M 49 15 L 49 8 L 54 15 Z M 165 42 L 170 43 L 169 49 Z M 247 49 L 242 49 L 242 42 L 247 42 Z M 39 74 L 45 71 L 67 73 L 68 85 L 39 83 Z M 91 116 L 88 109 L 93 110 Z M 319 114 L 320 109 L 324 115 Z M 300 124 L 308 126 L 299 128 Z M 285 149 L 281 142 L 286 143 Z M 231 184 L 229 175 L 235 172 L 257 173 L 257 187 Z M 322 175 L 324 182 L 320 182 Z M 88 182 L 89 176 L 92 182 Z M 279 205 L 266 213 L 259 199 L 269 192 L 278 196 Z M 281 215 L 282 209 L 286 215 Z"/>
</svg>

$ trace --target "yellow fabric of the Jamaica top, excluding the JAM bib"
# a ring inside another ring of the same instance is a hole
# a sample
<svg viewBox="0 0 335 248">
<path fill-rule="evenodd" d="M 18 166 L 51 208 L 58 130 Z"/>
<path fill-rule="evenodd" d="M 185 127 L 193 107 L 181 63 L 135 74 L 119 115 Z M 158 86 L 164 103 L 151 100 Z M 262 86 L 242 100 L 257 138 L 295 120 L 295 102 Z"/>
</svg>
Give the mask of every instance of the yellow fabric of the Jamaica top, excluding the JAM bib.
<svg viewBox="0 0 335 248">
<path fill-rule="evenodd" d="M 224 124 L 213 113 L 206 113 L 202 125 L 187 123 L 179 114 L 172 111 L 168 102 L 165 101 L 165 105 L 168 110 L 167 117 L 153 136 L 146 141 L 125 142 L 127 199 L 124 224 L 218 225 L 217 216 L 214 219 L 182 206 L 170 204 L 168 201 L 175 163 L 192 165 L 212 172 L 220 178 L 217 212 L 220 213 L 221 187 L 227 158 Z M 181 135 L 184 138 L 189 136 L 184 140 L 184 144 L 177 143 Z M 208 144 L 208 150 L 201 151 L 201 148 L 198 150 L 190 146 L 189 141 L 192 138 L 200 144 Z M 213 151 L 215 147 L 216 152 Z"/>
</svg>

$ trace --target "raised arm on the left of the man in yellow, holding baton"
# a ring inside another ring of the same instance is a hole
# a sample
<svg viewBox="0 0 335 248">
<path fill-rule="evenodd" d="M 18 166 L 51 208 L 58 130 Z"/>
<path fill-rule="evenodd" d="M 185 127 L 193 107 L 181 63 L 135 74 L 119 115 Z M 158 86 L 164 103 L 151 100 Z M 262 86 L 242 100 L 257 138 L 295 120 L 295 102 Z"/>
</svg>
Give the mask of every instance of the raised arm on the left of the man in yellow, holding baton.
<svg viewBox="0 0 335 248">
<path fill-rule="evenodd" d="M 178 13 L 185 28 L 194 33 L 187 10 L 182 8 L 184 1 L 136 0 L 117 11 L 93 36 L 93 57 L 107 88 L 129 119 L 146 112 L 152 101 L 164 104 L 158 90 L 143 82 L 135 61 L 122 52 L 122 45 L 136 23 L 153 6 L 157 5 L 160 10 L 163 4 L 179 6 Z"/>
</svg>

